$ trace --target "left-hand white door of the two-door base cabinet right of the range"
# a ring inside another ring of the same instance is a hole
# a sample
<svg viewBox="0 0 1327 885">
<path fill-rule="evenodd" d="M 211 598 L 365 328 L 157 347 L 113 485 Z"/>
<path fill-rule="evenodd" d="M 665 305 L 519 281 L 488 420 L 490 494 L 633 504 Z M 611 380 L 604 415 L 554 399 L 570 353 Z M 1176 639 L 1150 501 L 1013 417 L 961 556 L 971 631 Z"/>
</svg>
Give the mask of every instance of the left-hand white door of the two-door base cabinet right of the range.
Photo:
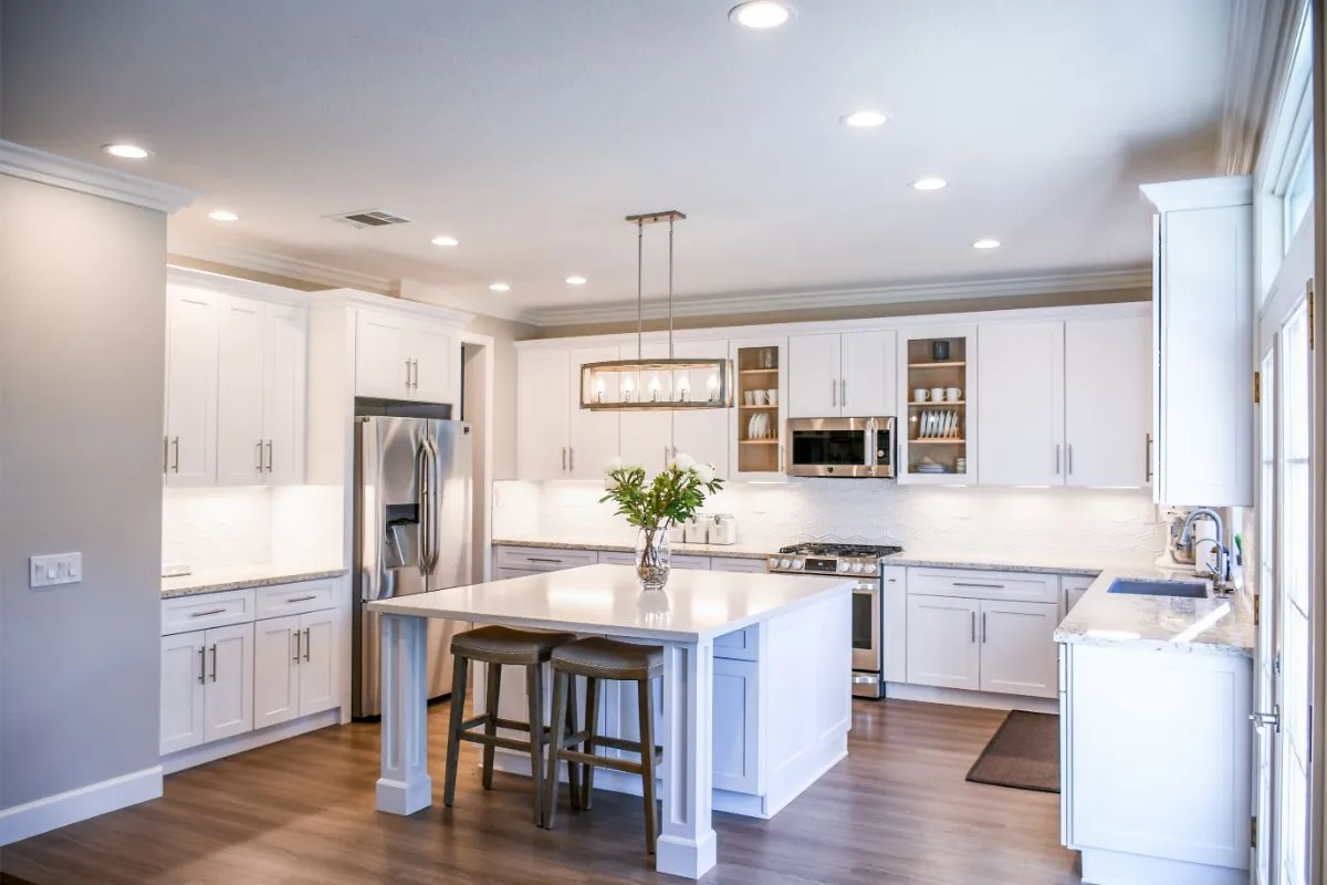
<svg viewBox="0 0 1327 885">
<path fill-rule="evenodd" d="M 981 602 L 946 596 L 908 597 L 908 682 L 977 689 Z"/>
</svg>

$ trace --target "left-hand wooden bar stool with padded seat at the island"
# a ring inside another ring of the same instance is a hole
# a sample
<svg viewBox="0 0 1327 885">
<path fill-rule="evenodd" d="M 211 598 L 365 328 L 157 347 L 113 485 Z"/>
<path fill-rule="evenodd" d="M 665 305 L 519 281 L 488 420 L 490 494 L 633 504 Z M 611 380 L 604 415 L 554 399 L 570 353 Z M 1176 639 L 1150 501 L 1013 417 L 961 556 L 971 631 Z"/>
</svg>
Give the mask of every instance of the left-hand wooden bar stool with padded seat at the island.
<svg viewBox="0 0 1327 885">
<path fill-rule="evenodd" d="M 544 726 L 544 673 L 543 665 L 560 645 L 573 642 L 575 633 L 548 633 L 541 630 L 516 630 L 507 626 L 482 626 L 464 633 L 458 633 L 451 638 L 451 654 L 455 657 L 455 667 L 451 677 L 451 724 L 447 730 L 447 780 L 443 791 L 443 803 L 451 807 L 456 795 L 456 766 L 460 759 L 460 742 L 468 740 L 484 748 L 483 783 L 484 789 L 494 785 L 494 750 L 518 750 L 529 754 L 529 772 L 535 787 L 535 824 L 544 823 L 544 746 L 549 743 L 551 727 Z M 483 715 L 471 719 L 464 718 L 466 711 L 466 682 L 471 661 L 482 661 L 488 665 L 488 679 L 484 695 Z M 502 719 L 498 715 L 498 697 L 502 691 L 503 665 L 525 667 L 525 693 L 529 701 L 527 722 Z M 575 701 L 573 701 L 575 703 Z M 561 714 L 552 722 L 565 719 L 564 731 L 575 731 L 575 707 L 572 714 Z M 479 734 L 475 728 L 483 726 Z M 498 728 L 512 728 L 529 732 L 529 740 L 506 738 L 498 734 Z M 552 767 L 556 767 L 549 760 Z M 567 763 L 567 775 L 576 780 L 577 767 Z"/>
</svg>

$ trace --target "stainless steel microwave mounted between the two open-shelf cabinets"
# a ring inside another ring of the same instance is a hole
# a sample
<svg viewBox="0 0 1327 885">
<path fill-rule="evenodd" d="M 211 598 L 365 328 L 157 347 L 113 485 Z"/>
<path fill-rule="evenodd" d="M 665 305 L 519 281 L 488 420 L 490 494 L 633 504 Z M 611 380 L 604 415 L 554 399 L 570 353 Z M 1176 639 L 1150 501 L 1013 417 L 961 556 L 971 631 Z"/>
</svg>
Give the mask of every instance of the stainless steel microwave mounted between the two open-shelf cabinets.
<svg viewBox="0 0 1327 885">
<path fill-rule="evenodd" d="M 788 421 L 788 475 L 893 476 L 893 418 Z"/>
</svg>

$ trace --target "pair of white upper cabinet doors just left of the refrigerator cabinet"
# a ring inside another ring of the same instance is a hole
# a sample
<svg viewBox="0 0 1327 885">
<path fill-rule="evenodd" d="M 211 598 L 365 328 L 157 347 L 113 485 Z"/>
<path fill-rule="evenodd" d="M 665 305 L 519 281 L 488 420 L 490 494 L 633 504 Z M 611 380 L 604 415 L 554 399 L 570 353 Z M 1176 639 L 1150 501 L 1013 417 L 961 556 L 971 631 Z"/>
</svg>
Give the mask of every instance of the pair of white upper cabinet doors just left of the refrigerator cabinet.
<svg viewBox="0 0 1327 885">
<path fill-rule="evenodd" d="M 307 354 L 308 310 L 222 297 L 219 484 L 303 482 Z"/>
</svg>

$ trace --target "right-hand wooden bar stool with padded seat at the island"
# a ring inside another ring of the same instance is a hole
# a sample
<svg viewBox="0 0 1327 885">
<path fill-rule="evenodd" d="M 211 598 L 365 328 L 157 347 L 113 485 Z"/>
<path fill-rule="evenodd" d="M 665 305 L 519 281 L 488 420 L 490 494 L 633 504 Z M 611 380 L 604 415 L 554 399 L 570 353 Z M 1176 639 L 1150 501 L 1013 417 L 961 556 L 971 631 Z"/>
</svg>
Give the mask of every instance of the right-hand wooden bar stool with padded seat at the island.
<svg viewBox="0 0 1327 885">
<path fill-rule="evenodd" d="M 654 807 L 654 780 L 658 764 L 664 758 L 662 747 L 654 744 L 654 705 L 650 701 L 650 679 L 664 673 L 664 649 L 657 645 L 634 645 L 632 642 L 617 642 L 592 637 L 579 640 L 568 645 L 553 649 L 553 722 L 565 718 L 572 720 L 572 734 L 565 731 L 553 738 L 548 751 L 548 775 L 544 795 L 544 827 L 553 828 L 553 815 L 557 807 L 557 762 L 565 759 L 568 766 L 580 763 L 585 767 L 581 774 L 580 797 L 577 801 L 576 780 L 572 776 L 572 807 L 588 809 L 591 807 L 591 793 L 594 789 L 594 768 L 602 766 L 625 771 L 641 776 L 642 792 L 645 795 L 645 848 L 654 853 L 656 807 Z M 576 679 L 585 677 L 585 728 L 576 731 Z M 641 716 L 641 739 L 624 740 L 621 738 L 604 738 L 596 734 L 598 727 L 598 690 L 601 679 L 616 679 L 620 682 L 636 683 L 636 701 Z M 584 748 L 577 750 L 576 747 Z M 626 759 L 609 759 L 594 754 L 598 747 L 624 750 L 641 756 L 640 762 Z M 642 748 L 648 748 L 642 750 Z"/>
</svg>

